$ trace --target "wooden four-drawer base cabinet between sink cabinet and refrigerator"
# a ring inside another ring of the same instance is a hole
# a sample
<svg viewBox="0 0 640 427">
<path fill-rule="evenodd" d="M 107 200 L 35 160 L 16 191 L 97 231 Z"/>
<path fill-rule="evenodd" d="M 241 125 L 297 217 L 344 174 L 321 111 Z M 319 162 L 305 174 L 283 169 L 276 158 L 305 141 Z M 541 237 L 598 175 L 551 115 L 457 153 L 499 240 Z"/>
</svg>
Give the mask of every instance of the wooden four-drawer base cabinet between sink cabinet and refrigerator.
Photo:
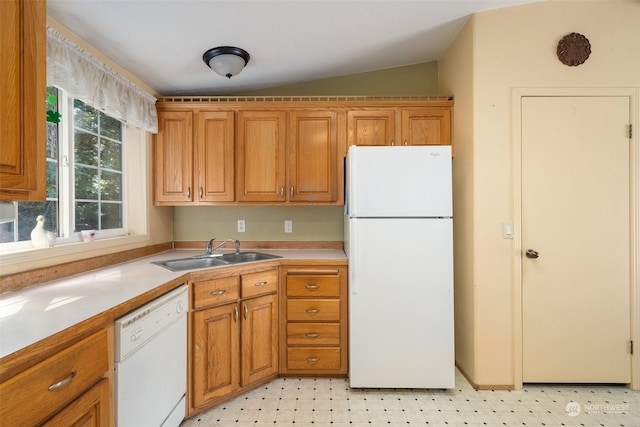
<svg viewBox="0 0 640 427">
<path fill-rule="evenodd" d="M 280 373 L 347 374 L 347 267 L 281 267 Z"/>
</svg>

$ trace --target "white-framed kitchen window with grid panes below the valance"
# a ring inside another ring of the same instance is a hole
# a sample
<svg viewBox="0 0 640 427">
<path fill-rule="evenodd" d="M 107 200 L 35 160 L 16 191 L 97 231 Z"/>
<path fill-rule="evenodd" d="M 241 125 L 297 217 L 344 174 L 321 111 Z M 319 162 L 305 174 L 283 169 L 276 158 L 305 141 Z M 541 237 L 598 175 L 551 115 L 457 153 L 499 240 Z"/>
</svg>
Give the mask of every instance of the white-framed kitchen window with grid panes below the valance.
<svg viewBox="0 0 640 427">
<path fill-rule="evenodd" d="M 0 205 L 3 252 L 32 247 L 38 215 L 56 245 L 81 241 L 82 230 L 96 230 L 97 239 L 128 234 L 127 126 L 63 90 L 48 87 L 47 95 L 47 198 Z"/>
</svg>

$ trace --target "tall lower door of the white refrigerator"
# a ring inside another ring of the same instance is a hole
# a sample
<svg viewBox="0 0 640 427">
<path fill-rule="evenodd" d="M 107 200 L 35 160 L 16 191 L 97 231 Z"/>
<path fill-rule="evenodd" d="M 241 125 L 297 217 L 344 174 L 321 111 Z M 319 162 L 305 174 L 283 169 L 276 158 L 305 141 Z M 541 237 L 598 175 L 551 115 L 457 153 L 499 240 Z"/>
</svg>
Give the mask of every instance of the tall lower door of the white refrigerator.
<svg viewBox="0 0 640 427">
<path fill-rule="evenodd" d="M 351 387 L 455 386 L 451 219 L 349 224 Z"/>
</svg>

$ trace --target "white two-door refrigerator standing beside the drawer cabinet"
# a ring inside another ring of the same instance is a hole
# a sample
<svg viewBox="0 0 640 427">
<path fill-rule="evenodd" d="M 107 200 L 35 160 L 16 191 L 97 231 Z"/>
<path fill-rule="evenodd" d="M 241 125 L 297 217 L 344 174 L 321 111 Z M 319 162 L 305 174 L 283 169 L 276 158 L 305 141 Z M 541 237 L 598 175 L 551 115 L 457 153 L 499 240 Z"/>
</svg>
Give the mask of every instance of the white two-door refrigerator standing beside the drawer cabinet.
<svg viewBox="0 0 640 427">
<path fill-rule="evenodd" d="M 449 146 L 351 146 L 349 384 L 455 387 Z"/>
</svg>

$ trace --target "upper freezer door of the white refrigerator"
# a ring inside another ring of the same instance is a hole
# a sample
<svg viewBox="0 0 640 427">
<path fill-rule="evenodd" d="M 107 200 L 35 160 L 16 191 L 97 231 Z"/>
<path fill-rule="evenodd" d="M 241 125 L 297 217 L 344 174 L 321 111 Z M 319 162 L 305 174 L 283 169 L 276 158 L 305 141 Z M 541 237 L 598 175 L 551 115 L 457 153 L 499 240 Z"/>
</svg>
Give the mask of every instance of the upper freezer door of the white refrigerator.
<svg viewBox="0 0 640 427">
<path fill-rule="evenodd" d="M 349 148 L 350 217 L 451 217 L 451 147 Z"/>
</svg>

